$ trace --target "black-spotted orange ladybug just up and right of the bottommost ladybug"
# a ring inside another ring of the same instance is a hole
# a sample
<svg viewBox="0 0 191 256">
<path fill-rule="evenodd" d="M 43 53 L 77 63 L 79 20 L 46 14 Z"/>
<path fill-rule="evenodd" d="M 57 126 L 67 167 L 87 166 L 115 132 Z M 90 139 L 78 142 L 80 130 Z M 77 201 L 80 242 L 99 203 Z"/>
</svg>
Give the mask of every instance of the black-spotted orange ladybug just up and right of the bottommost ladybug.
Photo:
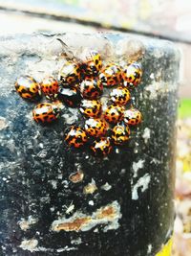
<svg viewBox="0 0 191 256">
<path fill-rule="evenodd" d="M 130 128 L 120 122 L 112 129 L 112 139 L 116 145 L 123 145 L 129 140 Z"/>
</svg>

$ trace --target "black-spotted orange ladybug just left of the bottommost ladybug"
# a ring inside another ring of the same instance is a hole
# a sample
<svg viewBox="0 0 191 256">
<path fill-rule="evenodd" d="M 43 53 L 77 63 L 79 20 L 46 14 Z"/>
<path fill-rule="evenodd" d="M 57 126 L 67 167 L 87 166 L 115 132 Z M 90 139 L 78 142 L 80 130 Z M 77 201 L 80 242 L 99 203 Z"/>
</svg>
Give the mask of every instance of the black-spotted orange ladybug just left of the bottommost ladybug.
<svg viewBox="0 0 191 256">
<path fill-rule="evenodd" d="M 84 146 L 88 140 L 86 131 L 83 128 L 76 126 L 71 127 L 65 135 L 65 141 L 68 143 L 68 145 L 76 149 Z"/>
</svg>

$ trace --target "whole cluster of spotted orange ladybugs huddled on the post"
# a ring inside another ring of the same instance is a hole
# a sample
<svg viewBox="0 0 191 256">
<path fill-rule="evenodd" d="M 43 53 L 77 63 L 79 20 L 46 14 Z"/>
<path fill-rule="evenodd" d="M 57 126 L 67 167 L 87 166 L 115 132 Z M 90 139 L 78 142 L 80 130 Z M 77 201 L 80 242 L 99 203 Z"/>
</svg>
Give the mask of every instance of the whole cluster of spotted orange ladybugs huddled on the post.
<svg viewBox="0 0 191 256">
<path fill-rule="evenodd" d="M 130 127 L 138 126 L 141 113 L 131 103 L 131 90 L 141 81 L 138 62 L 125 66 L 102 64 L 94 50 L 84 51 L 79 59 L 67 59 L 58 79 L 47 77 L 41 82 L 23 76 L 15 82 L 18 94 L 26 100 L 41 102 L 32 110 L 35 122 L 49 124 L 60 115 L 62 105 L 77 107 L 83 126 L 73 125 L 65 132 L 65 142 L 76 149 L 87 146 L 97 156 L 106 156 L 115 146 L 130 138 Z M 107 105 L 103 104 L 107 99 Z"/>
</svg>

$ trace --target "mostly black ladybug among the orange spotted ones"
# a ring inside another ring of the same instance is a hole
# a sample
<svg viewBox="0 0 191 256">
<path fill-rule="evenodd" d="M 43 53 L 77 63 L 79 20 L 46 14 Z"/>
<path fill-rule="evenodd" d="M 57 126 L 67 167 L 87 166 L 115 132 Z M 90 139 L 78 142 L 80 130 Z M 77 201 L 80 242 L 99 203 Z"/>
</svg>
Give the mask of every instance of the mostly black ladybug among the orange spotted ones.
<svg viewBox="0 0 191 256">
<path fill-rule="evenodd" d="M 58 99 L 63 102 L 65 105 L 70 107 L 75 107 L 80 104 L 81 96 L 77 88 L 72 87 L 63 87 L 58 90 Z"/>
</svg>

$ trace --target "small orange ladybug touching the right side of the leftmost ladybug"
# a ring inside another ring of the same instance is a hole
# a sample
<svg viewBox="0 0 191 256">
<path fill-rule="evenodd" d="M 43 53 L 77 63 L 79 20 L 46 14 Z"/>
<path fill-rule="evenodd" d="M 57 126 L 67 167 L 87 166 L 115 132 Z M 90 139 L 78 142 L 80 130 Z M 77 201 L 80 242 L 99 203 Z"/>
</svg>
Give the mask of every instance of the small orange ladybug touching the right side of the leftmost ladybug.
<svg viewBox="0 0 191 256">
<path fill-rule="evenodd" d="M 40 83 L 40 87 L 42 92 L 48 99 L 56 98 L 59 84 L 53 77 L 44 78 L 43 81 Z"/>
</svg>

